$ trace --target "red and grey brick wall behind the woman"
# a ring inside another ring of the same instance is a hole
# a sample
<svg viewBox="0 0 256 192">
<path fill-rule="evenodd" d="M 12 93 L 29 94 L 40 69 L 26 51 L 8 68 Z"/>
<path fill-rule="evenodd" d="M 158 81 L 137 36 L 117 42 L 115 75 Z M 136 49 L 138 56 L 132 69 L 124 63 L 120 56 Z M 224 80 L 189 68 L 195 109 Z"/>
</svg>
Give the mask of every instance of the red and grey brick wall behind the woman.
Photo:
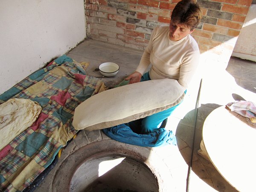
<svg viewBox="0 0 256 192">
<path fill-rule="evenodd" d="M 145 49 L 153 28 L 168 25 L 180 0 L 85 0 L 87 36 L 134 49 Z M 198 0 L 201 23 L 192 33 L 201 54 L 229 60 L 252 0 Z"/>
</svg>

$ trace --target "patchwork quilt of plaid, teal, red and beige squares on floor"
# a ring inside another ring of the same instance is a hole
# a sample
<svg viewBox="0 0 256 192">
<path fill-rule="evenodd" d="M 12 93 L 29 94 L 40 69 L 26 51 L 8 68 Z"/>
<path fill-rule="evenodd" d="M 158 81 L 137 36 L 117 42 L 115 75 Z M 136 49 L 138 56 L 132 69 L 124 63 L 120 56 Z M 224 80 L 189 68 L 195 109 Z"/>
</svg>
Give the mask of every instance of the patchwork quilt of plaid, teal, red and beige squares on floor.
<svg viewBox="0 0 256 192">
<path fill-rule="evenodd" d="M 75 108 L 105 90 L 102 81 L 86 75 L 87 66 L 62 55 L 0 95 L 0 104 L 23 98 L 42 107 L 32 126 L 0 151 L 0 191 L 23 191 L 76 134 Z"/>
</svg>

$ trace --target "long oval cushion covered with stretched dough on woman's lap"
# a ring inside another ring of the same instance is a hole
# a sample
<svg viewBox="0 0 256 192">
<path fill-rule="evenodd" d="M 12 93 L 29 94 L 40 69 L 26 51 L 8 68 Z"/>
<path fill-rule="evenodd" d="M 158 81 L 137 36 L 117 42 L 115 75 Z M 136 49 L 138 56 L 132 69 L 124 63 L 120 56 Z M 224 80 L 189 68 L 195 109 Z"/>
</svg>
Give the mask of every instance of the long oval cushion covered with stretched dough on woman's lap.
<svg viewBox="0 0 256 192">
<path fill-rule="evenodd" d="M 175 79 L 156 79 L 98 93 L 75 109 L 76 130 L 96 130 L 141 119 L 179 104 L 184 88 Z"/>
</svg>

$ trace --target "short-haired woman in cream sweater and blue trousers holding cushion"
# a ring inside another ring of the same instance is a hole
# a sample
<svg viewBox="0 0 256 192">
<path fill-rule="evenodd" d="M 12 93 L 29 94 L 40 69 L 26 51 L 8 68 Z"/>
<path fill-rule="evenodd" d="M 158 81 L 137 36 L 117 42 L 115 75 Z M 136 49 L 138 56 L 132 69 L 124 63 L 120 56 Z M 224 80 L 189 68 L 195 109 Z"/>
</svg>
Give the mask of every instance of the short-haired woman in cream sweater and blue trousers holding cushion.
<svg viewBox="0 0 256 192">
<path fill-rule="evenodd" d="M 154 28 L 139 66 L 125 80 L 132 84 L 151 79 L 176 79 L 186 93 L 200 57 L 198 44 L 190 34 L 200 23 L 201 17 L 200 7 L 193 0 L 177 3 L 169 26 Z M 152 64 L 151 69 L 144 73 L 149 64 Z M 175 108 L 177 105 L 145 117 L 141 122 L 141 133 L 151 133 L 159 128 Z"/>
</svg>

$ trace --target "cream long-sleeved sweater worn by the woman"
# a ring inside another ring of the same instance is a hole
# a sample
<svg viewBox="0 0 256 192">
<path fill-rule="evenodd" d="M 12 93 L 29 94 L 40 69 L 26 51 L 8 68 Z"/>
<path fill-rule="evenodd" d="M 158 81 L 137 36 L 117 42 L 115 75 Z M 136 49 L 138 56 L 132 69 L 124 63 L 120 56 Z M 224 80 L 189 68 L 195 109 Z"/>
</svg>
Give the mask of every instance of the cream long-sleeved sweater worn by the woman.
<svg viewBox="0 0 256 192">
<path fill-rule="evenodd" d="M 185 89 L 199 63 L 198 44 L 191 35 L 179 41 L 169 38 L 169 26 L 157 26 L 151 33 L 137 72 L 143 73 L 151 63 L 150 79 L 176 79 Z"/>
</svg>

